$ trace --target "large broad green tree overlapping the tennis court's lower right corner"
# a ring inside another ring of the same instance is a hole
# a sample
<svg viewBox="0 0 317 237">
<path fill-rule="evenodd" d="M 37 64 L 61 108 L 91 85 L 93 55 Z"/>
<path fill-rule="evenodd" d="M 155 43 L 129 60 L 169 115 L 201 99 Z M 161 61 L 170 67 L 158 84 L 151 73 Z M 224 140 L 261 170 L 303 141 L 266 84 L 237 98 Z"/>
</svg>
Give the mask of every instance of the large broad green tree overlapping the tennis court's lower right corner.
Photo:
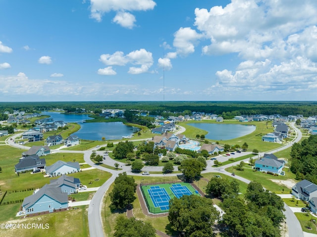
<svg viewBox="0 0 317 237">
<path fill-rule="evenodd" d="M 198 195 L 184 195 L 169 201 L 168 220 L 171 229 L 184 237 L 210 237 L 211 226 L 218 218 L 212 200 Z"/>
</svg>

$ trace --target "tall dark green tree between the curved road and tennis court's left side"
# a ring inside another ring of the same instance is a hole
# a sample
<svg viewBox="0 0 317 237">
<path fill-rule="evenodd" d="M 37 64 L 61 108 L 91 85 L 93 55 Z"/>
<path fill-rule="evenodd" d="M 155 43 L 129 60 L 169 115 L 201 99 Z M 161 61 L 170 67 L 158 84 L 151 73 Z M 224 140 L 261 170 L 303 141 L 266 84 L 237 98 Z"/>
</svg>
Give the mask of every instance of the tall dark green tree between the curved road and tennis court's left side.
<svg viewBox="0 0 317 237">
<path fill-rule="evenodd" d="M 124 209 L 128 204 L 132 203 L 136 197 L 134 196 L 137 184 L 133 177 L 128 177 L 126 172 L 118 175 L 114 180 L 113 190 L 110 192 L 110 209 Z"/>
</svg>

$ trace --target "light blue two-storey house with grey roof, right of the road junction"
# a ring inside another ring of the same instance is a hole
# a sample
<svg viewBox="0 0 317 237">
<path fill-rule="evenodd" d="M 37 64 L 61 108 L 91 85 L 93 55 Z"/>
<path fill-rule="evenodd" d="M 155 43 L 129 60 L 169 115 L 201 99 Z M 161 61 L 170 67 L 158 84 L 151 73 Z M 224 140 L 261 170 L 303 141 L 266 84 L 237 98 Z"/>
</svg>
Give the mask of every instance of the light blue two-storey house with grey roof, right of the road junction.
<svg viewBox="0 0 317 237">
<path fill-rule="evenodd" d="M 261 172 L 272 172 L 274 174 L 283 174 L 285 162 L 277 159 L 273 154 L 264 154 L 262 158 L 255 161 L 254 168 Z"/>
</svg>

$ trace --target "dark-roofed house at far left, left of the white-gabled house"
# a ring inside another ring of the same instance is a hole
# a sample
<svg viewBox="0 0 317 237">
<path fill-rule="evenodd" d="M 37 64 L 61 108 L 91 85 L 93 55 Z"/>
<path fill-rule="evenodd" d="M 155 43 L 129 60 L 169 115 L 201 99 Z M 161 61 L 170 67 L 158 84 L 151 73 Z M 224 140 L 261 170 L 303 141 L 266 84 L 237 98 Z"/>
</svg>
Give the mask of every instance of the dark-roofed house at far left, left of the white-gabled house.
<svg viewBox="0 0 317 237">
<path fill-rule="evenodd" d="M 38 155 L 30 155 L 26 158 L 21 158 L 19 163 L 15 166 L 15 172 L 23 172 L 27 170 L 45 169 L 46 161 L 44 158 L 40 159 Z"/>
</svg>

